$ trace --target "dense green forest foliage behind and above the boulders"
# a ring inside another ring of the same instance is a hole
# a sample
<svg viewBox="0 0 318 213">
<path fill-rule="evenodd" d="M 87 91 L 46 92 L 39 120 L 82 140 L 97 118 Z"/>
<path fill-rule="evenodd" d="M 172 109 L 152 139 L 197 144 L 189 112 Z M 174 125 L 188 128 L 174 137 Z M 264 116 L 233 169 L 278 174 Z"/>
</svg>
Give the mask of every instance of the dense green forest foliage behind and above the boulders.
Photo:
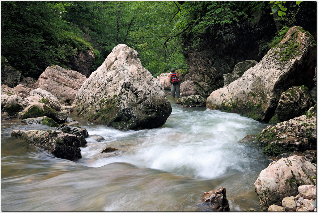
<svg viewBox="0 0 318 213">
<path fill-rule="evenodd" d="M 47 66 L 69 68 L 68 58 L 88 48 L 95 55 L 93 72 L 116 45 L 124 43 L 139 53 L 142 65 L 156 77 L 171 67 L 188 69 L 183 41 L 191 39 L 196 47 L 202 35 L 213 33 L 211 25 L 253 21 L 251 14 L 259 10 L 272 16 L 271 6 L 268 2 L 2 2 L 1 56 L 22 75 L 37 79 Z M 282 26 L 292 26 L 295 14 L 285 16 Z M 266 51 L 270 41 L 264 44 Z"/>
</svg>

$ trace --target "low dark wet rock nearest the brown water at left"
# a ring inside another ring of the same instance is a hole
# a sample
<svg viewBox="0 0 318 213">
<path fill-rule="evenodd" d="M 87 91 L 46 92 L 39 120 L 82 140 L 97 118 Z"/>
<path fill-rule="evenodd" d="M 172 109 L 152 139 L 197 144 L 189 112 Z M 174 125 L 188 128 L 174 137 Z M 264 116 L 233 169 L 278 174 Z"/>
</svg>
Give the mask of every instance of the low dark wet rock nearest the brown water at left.
<svg viewBox="0 0 318 213">
<path fill-rule="evenodd" d="M 73 134 L 59 131 L 14 130 L 11 137 L 22 137 L 31 145 L 51 152 L 55 157 L 76 160 L 80 154 L 80 139 Z"/>
</svg>

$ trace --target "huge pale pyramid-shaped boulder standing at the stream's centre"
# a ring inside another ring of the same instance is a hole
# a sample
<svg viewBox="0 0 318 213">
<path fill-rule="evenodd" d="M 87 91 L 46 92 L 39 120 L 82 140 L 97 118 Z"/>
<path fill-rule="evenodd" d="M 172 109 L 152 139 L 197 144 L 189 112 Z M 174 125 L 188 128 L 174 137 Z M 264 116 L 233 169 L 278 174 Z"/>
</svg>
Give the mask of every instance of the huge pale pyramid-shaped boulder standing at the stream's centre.
<svg viewBox="0 0 318 213">
<path fill-rule="evenodd" d="M 161 83 L 125 44 L 90 75 L 72 106 L 89 121 L 121 130 L 161 127 L 172 111 Z"/>
</svg>

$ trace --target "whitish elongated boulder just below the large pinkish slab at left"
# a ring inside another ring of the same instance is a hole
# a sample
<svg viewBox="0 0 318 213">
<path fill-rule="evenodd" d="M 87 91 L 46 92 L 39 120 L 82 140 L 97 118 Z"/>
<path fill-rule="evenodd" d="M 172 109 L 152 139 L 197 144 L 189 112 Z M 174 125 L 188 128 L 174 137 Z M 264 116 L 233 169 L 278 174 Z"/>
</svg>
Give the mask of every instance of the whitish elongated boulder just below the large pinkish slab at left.
<svg viewBox="0 0 318 213">
<path fill-rule="evenodd" d="M 59 103 L 59 100 L 54 95 L 40 88 L 31 91 L 30 96 L 25 100 L 29 101 L 30 103 L 46 104 L 56 111 L 63 109 L 63 106 Z"/>
</svg>

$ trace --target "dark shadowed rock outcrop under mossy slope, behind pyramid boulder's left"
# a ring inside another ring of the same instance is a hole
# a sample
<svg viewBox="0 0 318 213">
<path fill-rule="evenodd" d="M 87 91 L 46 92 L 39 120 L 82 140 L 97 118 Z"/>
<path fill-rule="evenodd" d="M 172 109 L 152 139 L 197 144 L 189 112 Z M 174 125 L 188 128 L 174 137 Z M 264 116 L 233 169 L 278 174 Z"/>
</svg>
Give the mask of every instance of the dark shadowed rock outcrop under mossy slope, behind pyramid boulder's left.
<svg viewBox="0 0 318 213">
<path fill-rule="evenodd" d="M 75 56 L 67 57 L 68 62 L 63 62 L 63 64 L 88 78 L 91 74 L 91 68 L 94 64 L 95 57 L 96 55 L 91 47 L 87 48 L 85 51 L 79 49 Z"/>
</svg>

